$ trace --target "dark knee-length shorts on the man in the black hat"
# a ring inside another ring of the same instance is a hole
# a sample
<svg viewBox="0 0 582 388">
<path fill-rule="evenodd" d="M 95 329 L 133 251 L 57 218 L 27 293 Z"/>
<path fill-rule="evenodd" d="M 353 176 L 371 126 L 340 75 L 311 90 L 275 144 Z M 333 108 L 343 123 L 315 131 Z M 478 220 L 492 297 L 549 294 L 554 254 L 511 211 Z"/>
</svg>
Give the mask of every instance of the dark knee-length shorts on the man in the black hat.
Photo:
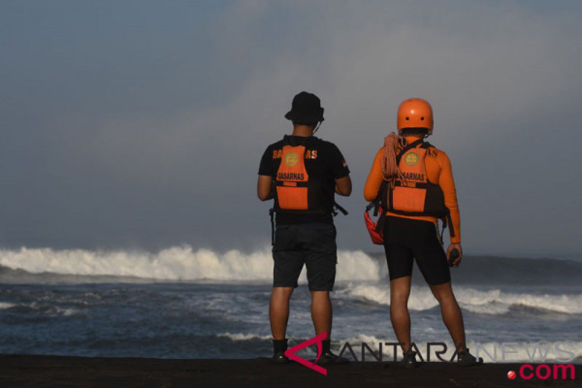
<svg viewBox="0 0 582 388">
<path fill-rule="evenodd" d="M 331 223 L 277 225 L 273 245 L 273 287 L 297 287 L 307 267 L 310 291 L 331 291 L 338 261 L 336 230 Z"/>
</svg>

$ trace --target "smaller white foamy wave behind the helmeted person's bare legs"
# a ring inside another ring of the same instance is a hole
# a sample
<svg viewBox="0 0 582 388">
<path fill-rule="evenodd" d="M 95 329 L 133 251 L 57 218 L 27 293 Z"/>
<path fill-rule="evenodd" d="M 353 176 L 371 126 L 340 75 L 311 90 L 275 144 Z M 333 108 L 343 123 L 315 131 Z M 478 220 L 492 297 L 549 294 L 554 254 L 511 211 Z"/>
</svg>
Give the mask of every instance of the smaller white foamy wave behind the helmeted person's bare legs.
<svg viewBox="0 0 582 388">
<path fill-rule="evenodd" d="M 349 284 L 338 292 L 340 296 L 364 298 L 378 304 L 390 304 L 388 285 Z M 565 314 L 582 314 L 582 295 L 534 295 L 509 293 L 498 289 L 480 291 L 468 287 L 455 287 L 459 305 L 480 314 L 505 314 L 512 306 L 540 308 Z M 438 306 L 428 287 L 411 287 L 409 308 L 422 311 Z"/>
</svg>

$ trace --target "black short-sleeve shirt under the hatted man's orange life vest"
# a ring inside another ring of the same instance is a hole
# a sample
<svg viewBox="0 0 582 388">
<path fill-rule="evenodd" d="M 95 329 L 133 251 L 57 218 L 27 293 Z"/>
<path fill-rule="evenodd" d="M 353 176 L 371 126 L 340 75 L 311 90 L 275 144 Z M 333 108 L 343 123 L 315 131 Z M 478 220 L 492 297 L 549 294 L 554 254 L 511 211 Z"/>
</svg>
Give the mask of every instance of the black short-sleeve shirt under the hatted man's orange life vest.
<svg viewBox="0 0 582 388">
<path fill-rule="evenodd" d="M 281 152 L 277 151 L 281 150 L 283 145 L 289 143 L 306 146 L 307 152 L 310 152 L 310 158 L 305 159 L 305 168 L 308 175 L 324 181 L 324 190 L 328 191 L 329 198 L 333 198 L 335 179 L 347 176 L 350 170 L 347 168 L 342 152 L 339 151 L 335 144 L 315 136 L 285 136 L 283 140 L 269 145 L 262 155 L 258 175 L 268 175 L 275 179 L 281 164 L 281 157 L 277 157 Z M 276 223 L 278 225 L 308 222 L 333 223 L 333 218 L 331 213 L 327 215 L 277 213 L 276 215 Z"/>
</svg>

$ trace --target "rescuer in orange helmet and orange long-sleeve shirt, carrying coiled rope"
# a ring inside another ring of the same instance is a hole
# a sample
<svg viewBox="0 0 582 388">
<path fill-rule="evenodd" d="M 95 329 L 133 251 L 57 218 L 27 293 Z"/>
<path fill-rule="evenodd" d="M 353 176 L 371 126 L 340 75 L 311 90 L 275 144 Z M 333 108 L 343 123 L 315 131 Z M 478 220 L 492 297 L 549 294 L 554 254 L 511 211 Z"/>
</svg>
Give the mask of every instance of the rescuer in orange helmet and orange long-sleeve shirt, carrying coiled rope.
<svg viewBox="0 0 582 388">
<path fill-rule="evenodd" d="M 424 138 L 432 134 L 431 105 L 420 98 L 398 109 L 398 134 L 385 138 L 365 183 L 367 201 L 381 200 L 381 232 L 390 276 L 390 315 L 402 344 L 404 366 L 417 366 L 411 348 L 408 298 L 413 260 L 437 298 L 443 321 L 458 351 L 459 365 L 478 364 L 465 344 L 463 316 L 450 284 L 451 264 L 458 266 L 461 248 L 459 205 L 450 160 Z M 448 220 L 451 244 L 443 250 L 438 219 Z M 455 256 L 458 257 L 455 259 Z"/>
</svg>

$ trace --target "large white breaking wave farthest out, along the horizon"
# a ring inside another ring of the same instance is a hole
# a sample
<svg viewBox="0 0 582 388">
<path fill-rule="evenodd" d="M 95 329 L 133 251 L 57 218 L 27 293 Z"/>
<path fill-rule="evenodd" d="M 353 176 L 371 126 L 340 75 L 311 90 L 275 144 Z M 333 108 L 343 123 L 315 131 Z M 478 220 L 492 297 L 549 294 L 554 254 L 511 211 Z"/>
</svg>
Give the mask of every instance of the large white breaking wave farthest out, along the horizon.
<svg viewBox="0 0 582 388">
<path fill-rule="evenodd" d="M 173 247 L 155 254 L 132 251 L 88 251 L 20 248 L 0 250 L 0 265 L 29 273 L 62 275 L 133 276 L 162 280 L 272 280 L 270 249 L 246 254 L 230 250 L 194 251 Z M 337 280 L 379 280 L 384 266 L 362 251 L 338 252 Z M 300 281 L 306 282 L 301 274 Z"/>
</svg>

